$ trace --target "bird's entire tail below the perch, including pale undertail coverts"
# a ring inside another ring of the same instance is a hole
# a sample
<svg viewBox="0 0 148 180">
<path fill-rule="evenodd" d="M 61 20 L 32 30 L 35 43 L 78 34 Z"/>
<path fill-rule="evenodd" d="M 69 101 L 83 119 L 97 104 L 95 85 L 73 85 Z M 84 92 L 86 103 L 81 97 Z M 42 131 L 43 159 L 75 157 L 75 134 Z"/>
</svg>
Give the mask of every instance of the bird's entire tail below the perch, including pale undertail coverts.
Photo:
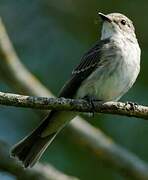
<svg viewBox="0 0 148 180">
<path fill-rule="evenodd" d="M 74 116 L 71 112 L 51 111 L 38 128 L 12 148 L 11 156 L 18 158 L 25 168 L 32 167 L 58 132 Z"/>
</svg>

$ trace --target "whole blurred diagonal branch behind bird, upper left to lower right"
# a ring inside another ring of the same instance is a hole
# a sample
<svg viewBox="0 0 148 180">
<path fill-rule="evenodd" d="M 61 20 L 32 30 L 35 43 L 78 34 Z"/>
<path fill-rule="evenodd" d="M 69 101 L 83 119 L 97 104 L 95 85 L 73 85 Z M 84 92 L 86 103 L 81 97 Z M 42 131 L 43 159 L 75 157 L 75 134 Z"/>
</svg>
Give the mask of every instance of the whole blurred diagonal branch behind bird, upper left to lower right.
<svg viewBox="0 0 148 180">
<path fill-rule="evenodd" d="M 3 47 L 5 43 L 9 48 Z M 10 52 L 13 56 L 7 55 Z M 0 72 L 2 72 L 5 81 L 13 89 L 24 94 L 53 97 L 52 93 L 41 85 L 39 81 L 36 80 L 35 83 L 32 83 L 27 79 L 34 79 L 34 76 L 21 64 L 2 21 L 0 21 L 0 57 Z M 17 64 L 19 64 L 19 68 Z M 24 72 L 24 77 L 20 79 L 21 72 Z M 17 86 L 14 86 L 14 84 Z M 82 147 L 87 146 L 98 160 L 111 164 L 122 175 L 128 175 L 132 179 L 148 179 L 148 165 L 145 162 L 111 141 L 101 130 L 94 128 L 82 118 L 75 118 L 69 124 L 68 130 L 70 135 L 75 136 L 76 142 L 79 141 Z"/>
</svg>

